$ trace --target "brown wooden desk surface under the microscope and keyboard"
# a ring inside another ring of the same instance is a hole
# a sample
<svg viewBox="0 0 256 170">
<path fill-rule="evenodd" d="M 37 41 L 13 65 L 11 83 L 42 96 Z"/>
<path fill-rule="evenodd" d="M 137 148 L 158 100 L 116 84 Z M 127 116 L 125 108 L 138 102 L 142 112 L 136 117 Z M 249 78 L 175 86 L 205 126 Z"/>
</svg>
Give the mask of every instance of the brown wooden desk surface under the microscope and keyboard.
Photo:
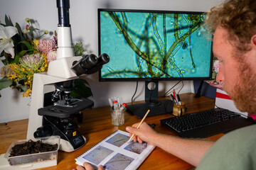
<svg viewBox="0 0 256 170">
<path fill-rule="evenodd" d="M 214 100 L 206 97 L 194 98 L 194 94 L 181 94 L 181 101 L 186 103 L 186 113 L 203 111 L 214 108 Z M 114 126 L 111 123 L 110 106 L 101 108 L 92 108 L 83 111 L 83 123 L 80 124 L 79 131 L 85 136 L 87 143 L 75 152 L 58 152 L 58 165 L 50 166 L 43 169 L 73 169 L 75 166 L 75 158 L 87 151 L 115 130 L 124 130 L 127 126 L 140 122 L 141 119 L 131 113 L 125 113 L 125 123 L 121 126 Z M 156 115 L 146 118 L 146 123 L 155 123 L 157 132 L 175 135 L 160 124 L 161 119 L 170 118 L 171 115 Z M 28 119 L 17 120 L 0 125 L 0 154 L 4 154 L 11 142 L 26 139 L 26 131 L 28 128 Z M 208 137 L 212 140 L 218 140 L 223 134 Z M 165 152 L 163 149 L 156 147 L 144 163 L 139 167 L 142 169 L 191 169 L 193 166 L 184 162 L 177 157 Z"/>
</svg>

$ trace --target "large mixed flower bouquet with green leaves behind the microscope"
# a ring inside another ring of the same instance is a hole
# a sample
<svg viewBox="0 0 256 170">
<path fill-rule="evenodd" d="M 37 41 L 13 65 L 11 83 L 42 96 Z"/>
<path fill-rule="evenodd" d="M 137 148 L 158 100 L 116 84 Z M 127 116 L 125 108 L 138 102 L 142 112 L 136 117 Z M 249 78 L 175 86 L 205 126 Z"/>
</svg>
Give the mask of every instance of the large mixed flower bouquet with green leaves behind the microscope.
<svg viewBox="0 0 256 170">
<path fill-rule="evenodd" d="M 11 19 L 5 16 L 5 24 L 0 24 L 0 57 L 1 67 L 0 90 L 11 86 L 23 92 L 23 97 L 31 96 L 33 74 L 46 72 L 50 61 L 57 56 L 57 33 L 53 38 L 44 38 L 48 30 L 33 27 L 33 20 L 26 18 L 23 30 L 18 23 L 14 26 Z M 82 55 L 86 49 L 82 42 L 75 43 L 75 56 Z M 78 95 L 80 94 L 80 95 Z M 73 97 L 92 96 L 89 84 L 85 79 L 75 79 Z M 1 96 L 1 95 L 0 95 Z"/>
</svg>

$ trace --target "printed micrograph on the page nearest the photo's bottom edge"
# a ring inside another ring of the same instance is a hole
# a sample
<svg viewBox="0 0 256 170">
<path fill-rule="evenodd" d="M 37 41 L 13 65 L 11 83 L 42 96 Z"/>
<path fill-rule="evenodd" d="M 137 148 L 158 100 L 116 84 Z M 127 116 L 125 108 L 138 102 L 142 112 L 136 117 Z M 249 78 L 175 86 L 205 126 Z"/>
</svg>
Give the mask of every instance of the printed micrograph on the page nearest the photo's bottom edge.
<svg viewBox="0 0 256 170">
<path fill-rule="evenodd" d="M 110 159 L 110 161 L 103 165 L 103 167 L 111 170 L 123 170 L 126 169 L 133 160 L 133 158 L 127 157 L 123 154 L 116 154 L 112 159 Z"/>
</svg>

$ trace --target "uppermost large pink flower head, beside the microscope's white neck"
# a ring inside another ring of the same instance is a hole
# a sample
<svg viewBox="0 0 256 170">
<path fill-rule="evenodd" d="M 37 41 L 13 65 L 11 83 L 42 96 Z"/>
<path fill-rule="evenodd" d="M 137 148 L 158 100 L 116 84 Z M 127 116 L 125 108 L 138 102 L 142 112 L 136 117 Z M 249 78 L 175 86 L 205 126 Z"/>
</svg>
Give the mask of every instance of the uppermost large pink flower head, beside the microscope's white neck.
<svg viewBox="0 0 256 170">
<path fill-rule="evenodd" d="M 57 45 L 53 39 L 40 39 L 38 42 L 38 50 L 47 55 L 50 51 L 57 50 Z"/>
</svg>

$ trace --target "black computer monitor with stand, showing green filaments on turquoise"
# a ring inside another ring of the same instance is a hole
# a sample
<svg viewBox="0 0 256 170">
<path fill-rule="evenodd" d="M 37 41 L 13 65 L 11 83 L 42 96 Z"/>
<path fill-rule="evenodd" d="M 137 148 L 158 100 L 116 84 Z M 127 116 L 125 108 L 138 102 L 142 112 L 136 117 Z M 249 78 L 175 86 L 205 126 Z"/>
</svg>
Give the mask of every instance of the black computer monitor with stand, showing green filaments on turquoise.
<svg viewBox="0 0 256 170">
<path fill-rule="evenodd" d="M 145 81 L 146 102 L 127 108 L 135 115 L 148 108 L 156 110 L 149 116 L 171 112 L 171 104 L 158 101 L 158 81 L 211 79 L 212 42 L 203 27 L 205 17 L 192 11 L 99 8 L 99 54 L 110 56 L 100 81 Z M 154 90 L 148 89 L 151 81 Z"/>
</svg>

